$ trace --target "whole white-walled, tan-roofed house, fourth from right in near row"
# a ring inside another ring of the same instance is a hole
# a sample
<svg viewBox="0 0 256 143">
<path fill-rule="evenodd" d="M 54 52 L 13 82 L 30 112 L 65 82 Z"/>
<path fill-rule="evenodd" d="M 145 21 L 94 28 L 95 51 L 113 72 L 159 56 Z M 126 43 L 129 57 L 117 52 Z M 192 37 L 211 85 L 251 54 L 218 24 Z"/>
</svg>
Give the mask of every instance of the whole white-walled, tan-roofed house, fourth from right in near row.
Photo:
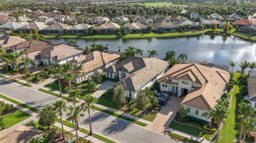
<svg viewBox="0 0 256 143">
<path fill-rule="evenodd" d="M 60 44 L 42 50 L 39 55 L 42 58 L 43 65 L 62 65 L 82 56 L 83 51 L 77 50 L 73 46 Z"/>
</svg>

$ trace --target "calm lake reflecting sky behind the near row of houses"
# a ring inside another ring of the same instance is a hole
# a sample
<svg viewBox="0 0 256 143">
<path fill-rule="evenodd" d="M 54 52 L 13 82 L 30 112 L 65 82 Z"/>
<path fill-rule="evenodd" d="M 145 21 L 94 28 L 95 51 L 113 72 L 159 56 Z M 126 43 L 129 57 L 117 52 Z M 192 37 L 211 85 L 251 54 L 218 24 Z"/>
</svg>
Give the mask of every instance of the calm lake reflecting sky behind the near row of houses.
<svg viewBox="0 0 256 143">
<path fill-rule="evenodd" d="M 76 40 L 79 48 L 95 44 L 109 44 L 109 50 L 117 51 L 121 47 L 121 52 L 127 46 L 134 46 L 144 51 L 143 56 L 148 56 L 148 50 L 157 50 L 158 57 L 164 58 L 167 51 L 174 50 L 176 56 L 185 53 L 188 59 L 193 61 L 207 60 L 209 63 L 227 65 L 228 61 L 247 60 L 256 62 L 256 43 L 235 38 L 234 36 L 221 35 L 200 35 L 196 37 L 175 37 L 175 38 L 151 38 L 151 39 L 47 39 L 51 42 L 68 42 Z M 240 70 L 237 67 L 234 71 Z"/>
</svg>

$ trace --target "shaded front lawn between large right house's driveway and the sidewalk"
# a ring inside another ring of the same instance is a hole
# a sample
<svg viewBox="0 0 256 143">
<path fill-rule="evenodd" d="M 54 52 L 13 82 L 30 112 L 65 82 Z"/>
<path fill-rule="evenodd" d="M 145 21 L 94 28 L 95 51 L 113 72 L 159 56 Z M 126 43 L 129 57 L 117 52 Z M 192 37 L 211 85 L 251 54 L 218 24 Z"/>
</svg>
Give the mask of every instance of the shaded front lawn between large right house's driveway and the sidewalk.
<svg viewBox="0 0 256 143">
<path fill-rule="evenodd" d="M 203 137 L 209 140 L 209 138 L 213 138 L 215 136 L 214 133 L 206 133 L 202 131 L 201 129 L 198 129 L 198 127 L 190 126 L 190 125 L 182 125 L 180 123 L 177 123 L 175 121 L 171 121 L 169 127 L 172 129 L 176 129 L 178 131 L 188 133 L 189 135 Z"/>
</svg>

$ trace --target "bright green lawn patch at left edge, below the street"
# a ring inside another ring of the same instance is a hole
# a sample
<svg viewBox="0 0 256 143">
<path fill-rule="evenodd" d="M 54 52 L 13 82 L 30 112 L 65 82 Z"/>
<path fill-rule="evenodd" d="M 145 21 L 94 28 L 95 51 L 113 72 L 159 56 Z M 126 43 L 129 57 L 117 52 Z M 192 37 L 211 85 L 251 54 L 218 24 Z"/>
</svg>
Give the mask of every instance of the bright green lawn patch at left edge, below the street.
<svg viewBox="0 0 256 143">
<path fill-rule="evenodd" d="M 20 110 L 17 110 L 14 113 L 3 115 L 3 118 L 5 119 L 5 123 L 7 124 L 7 128 L 12 127 L 12 125 L 16 125 L 17 123 L 20 123 L 20 121 L 23 121 L 24 119 L 30 118 L 31 115 L 22 112 Z"/>
</svg>

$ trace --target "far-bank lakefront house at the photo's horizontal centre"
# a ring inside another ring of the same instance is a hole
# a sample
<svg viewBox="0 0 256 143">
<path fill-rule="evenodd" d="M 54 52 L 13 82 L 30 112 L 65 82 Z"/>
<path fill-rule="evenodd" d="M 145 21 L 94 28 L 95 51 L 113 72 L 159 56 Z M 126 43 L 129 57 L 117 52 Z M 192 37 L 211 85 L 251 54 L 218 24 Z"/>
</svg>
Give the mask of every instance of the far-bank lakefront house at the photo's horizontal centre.
<svg viewBox="0 0 256 143">
<path fill-rule="evenodd" d="M 133 22 L 131 24 L 127 23 L 124 27 L 129 28 L 129 33 L 146 33 L 148 32 L 148 28 L 144 24 L 140 24 L 139 22 Z"/>
</svg>

